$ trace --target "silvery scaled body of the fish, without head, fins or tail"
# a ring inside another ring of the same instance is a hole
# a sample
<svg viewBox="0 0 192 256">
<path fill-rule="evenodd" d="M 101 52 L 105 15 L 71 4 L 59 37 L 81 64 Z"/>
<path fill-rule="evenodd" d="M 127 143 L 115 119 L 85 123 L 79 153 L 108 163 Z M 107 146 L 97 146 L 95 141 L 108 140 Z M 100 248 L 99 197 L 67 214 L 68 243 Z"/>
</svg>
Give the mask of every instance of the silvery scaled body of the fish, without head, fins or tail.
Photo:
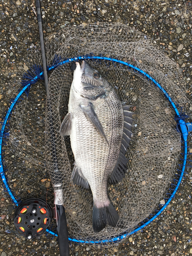
<svg viewBox="0 0 192 256">
<path fill-rule="evenodd" d="M 89 102 L 89 99 L 83 99 L 81 103 L 87 105 Z M 116 104 L 115 107 L 114 104 Z M 123 113 L 121 102 L 114 89 L 111 88 L 106 99 L 99 98 L 94 104 L 95 112 L 110 146 L 84 116 L 76 96 L 71 92 L 69 105 L 71 105 L 74 122 L 70 138 L 75 163 L 84 177 L 87 178 L 93 198 L 104 203 L 108 198 L 108 179 L 115 167 L 122 139 Z"/>
</svg>

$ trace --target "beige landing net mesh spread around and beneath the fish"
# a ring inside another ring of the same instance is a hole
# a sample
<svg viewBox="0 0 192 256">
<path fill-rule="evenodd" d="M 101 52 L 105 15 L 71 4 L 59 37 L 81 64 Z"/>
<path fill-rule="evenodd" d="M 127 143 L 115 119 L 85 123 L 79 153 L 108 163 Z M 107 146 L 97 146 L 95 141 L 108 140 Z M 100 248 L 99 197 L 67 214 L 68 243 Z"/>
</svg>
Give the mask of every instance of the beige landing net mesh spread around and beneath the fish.
<svg viewBox="0 0 192 256">
<path fill-rule="evenodd" d="M 176 63 L 138 31 L 122 24 L 101 24 L 64 29 L 46 38 L 50 67 L 55 66 L 58 60 L 87 54 L 129 62 L 158 81 L 180 107 L 188 104 L 185 84 Z M 8 147 L 14 159 L 22 160 L 29 173 L 29 177 L 23 179 L 23 188 L 18 188 L 18 193 L 26 190 L 23 195 L 29 197 L 27 190 L 30 190 L 30 182 L 38 181 L 37 190 L 32 189 L 36 194 L 39 190 L 46 194 L 47 187 L 50 187 L 48 170 L 53 184 L 62 183 L 69 236 L 88 242 L 112 242 L 119 234 L 135 229 L 163 199 L 177 168 L 181 135 L 177 130 L 173 107 L 146 76 L 114 61 L 93 58 L 86 61 L 111 83 L 121 101 L 132 105 L 134 112 L 133 137 L 126 152 L 129 158 L 127 172 L 118 184 L 108 186 L 109 197 L 119 215 L 117 226 L 106 226 L 99 233 L 94 233 L 91 189 L 74 186 L 72 182 L 74 156 L 70 138 L 59 134 L 61 122 L 68 113 L 73 80 L 71 63 L 60 65 L 51 72 L 46 110 L 45 90 L 40 83 L 37 87 L 34 85 L 29 97 L 17 105 L 10 120 Z M 25 61 L 27 67 L 34 64 L 41 65 L 38 46 L 30 51 Z M 16 79 L 18 82 L 18 77 Z M 45 148 L 42 143 L 45 143 Z M 56 167 L 59 173 L 55 172 Z M 18 170 L 17 175 L 23 171 Z M 41 181 L 44 179 L 46 183 Z M 51 200 L 51 188 L 49 193 Z"/>
</svg>

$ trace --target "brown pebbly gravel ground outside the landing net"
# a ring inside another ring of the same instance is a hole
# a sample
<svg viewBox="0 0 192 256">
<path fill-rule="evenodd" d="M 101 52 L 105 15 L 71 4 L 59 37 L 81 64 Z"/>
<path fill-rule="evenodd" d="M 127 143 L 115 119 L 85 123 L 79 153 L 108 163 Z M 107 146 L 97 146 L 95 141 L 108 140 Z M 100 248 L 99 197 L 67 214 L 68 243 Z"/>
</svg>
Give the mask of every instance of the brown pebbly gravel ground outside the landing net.
<svg viewBox="0 0 192 256">
<path fill-rule="evenodd" d="M 183 71 L 186 93 L 191 99 L 192 4 L 188 0 L 144 1 L 42 1 L 44 33 L 50 35 L 66 26 L 81 23 L 121 22 L 156 41 Z M 38 26 L 33 2 L 0 0 L 0 121 L 10 100 L 9 82 L 30 46 L 38 42 Z M 192 120 L 191 120 L 192 121 Z M 189 137 L 189 141 L 192 137 Z M 189 142 L 189 146 L 191 143 Z M 190 148 L 189 148 L 190 151 Z M 192 254 L 191 168 L 175 199 L 163 214 L 118 246 L 98 248 L 70 244 L 71 255 L 190 255 Z M 59 255 L 56 238 L 42 236 L 26 240 L 18 237 L 13 225 L 13 205 L 0 194 L 0 255 Z M 6 230 L 11 230 L 7 233 Z"/>
</svg>

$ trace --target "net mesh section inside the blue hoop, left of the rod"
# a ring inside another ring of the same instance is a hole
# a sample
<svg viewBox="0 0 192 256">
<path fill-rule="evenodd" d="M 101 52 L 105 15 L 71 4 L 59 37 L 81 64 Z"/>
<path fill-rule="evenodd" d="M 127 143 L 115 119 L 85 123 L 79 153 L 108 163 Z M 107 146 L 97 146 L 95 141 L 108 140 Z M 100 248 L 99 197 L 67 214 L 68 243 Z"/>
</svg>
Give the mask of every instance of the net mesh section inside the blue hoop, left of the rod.
<svg viewBox="0 0 192 256">
<path fill-rule="evenodd" d="M 15 91 L 15 95 L 17 92 Z M 14 100 L 11 100 L 11 103 Z M 12 111 L 5 150 L 7 178 L 16 197 L 53 200 L 45 161 L 45 86 L 37 83 L 25 93 Z"/>
</svg>

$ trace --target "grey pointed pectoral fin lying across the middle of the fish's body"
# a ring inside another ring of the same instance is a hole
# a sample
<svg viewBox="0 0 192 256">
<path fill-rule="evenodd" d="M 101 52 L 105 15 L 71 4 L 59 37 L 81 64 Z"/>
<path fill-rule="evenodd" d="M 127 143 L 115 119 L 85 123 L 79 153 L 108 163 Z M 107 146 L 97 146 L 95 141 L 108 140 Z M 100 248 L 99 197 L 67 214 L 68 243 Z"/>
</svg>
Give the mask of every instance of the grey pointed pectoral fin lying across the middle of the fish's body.
<svg viewBox="0 0 192 256">
<path fill-rule="evenodd" d="M 97 131 L 100 133 L 100 135 L 106 140 L 106 142 L 109 145 L 108 140 L 106 139 L 106 136 L 104 134 L 103 131 L 103 127 L 97 117 L 97 114 L 95 113 L 95 110 L 93 108 L 93 104 L 91 102 L 89 102 L 89 104 L 87 106 L 85 105 L 80 105 L 84 115 L 87 117 L 88 120 L 90 120 L 93 125 L 95 126 L 95 128 L 97 129 Z"/>
</svg>

